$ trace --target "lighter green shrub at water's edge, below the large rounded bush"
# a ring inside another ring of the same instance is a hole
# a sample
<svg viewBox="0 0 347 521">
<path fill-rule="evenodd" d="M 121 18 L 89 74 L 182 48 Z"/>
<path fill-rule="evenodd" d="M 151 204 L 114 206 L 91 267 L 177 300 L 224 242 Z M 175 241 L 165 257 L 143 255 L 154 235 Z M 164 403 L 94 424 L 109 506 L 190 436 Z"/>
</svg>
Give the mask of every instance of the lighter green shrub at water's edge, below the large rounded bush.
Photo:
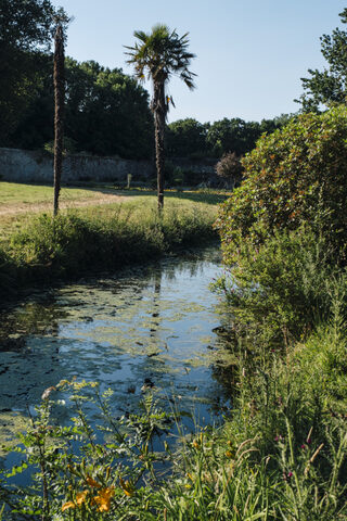
<svg viewBox="0 0 347 521">
<path fill-rule="evenodd" d="M 347 318 L 347 276 L 329 239 L 309 227 L 277 231 L 259 246 L 244 241 L 235 263 L 217 288 L 240 334 L 253 331 L 268 348 L 329 322 L 336 302 Z"/>
</svg>

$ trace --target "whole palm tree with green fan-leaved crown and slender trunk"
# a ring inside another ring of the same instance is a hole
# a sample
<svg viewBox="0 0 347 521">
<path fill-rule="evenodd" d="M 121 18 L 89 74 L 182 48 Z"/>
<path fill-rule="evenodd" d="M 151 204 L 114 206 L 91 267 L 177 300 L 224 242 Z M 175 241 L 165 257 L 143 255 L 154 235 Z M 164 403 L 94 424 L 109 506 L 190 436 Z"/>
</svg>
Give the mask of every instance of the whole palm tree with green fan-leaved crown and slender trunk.
<svg viewBox="0 0 347 521">
<path fill-rule="evenodd" d="M 179 76 L 190 88 L 194 88 L 194 73 L 189 71 L 195 54 L 188 52 L 188 33 L 179 37 L 176 29 L 170 31 L 167 25 L 155 25 L 152 33 L 136 30 L 133 36 L 138 41 L 133 47 L 127 47 L 130 58 L 127 63 L 133 64 L 136 76 L 143 81 L 145 75 L 152 79 L 153 99 L 151 109 L 154 116 L 155 154 L 158 191 L 158 209 L 164 206 L 164 166 L 165 166 L 165 122 L 172 98 L 167 96 L 166 86 L 172 75 Z M 175 106 L 175 105 L 174 105 Z"/>
</svg>

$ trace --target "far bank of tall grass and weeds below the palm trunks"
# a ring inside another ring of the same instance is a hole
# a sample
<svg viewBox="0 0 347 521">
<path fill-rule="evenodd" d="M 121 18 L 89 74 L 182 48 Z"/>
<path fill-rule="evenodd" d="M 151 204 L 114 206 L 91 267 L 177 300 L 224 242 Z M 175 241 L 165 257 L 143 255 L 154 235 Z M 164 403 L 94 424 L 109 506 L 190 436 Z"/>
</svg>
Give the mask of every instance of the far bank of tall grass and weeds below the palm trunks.
<svg viewBox="0 0 347 521">
<path fill-rule="evenodd" d="M 22 215 L 0 243 L 0 294 L 116 270 L 217 239 L 213 223 L 223 195 L 171 192 L 159 216 L 153 192 L 131 193 L 121 204 L 70 207 L 55 219 Z"/>
</svg>

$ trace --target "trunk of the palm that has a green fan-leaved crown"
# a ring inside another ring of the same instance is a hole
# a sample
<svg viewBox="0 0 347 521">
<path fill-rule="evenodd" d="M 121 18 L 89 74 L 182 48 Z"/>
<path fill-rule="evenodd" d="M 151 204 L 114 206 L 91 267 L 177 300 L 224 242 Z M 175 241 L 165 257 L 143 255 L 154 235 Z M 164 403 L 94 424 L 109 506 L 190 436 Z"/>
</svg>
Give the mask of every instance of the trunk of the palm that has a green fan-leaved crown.
<svg viewBox="0 0 347 521">
<path fill-rule="evenodd" d="M 165 84 L 154 84 L 154 96 L 152 103 L 155 130 L 155 158 L 158 193 L 158 211 L 164 207 L 164 168 L 165 168 L 165 119 L 167 106 L 165 103 Z"/>
</svg>

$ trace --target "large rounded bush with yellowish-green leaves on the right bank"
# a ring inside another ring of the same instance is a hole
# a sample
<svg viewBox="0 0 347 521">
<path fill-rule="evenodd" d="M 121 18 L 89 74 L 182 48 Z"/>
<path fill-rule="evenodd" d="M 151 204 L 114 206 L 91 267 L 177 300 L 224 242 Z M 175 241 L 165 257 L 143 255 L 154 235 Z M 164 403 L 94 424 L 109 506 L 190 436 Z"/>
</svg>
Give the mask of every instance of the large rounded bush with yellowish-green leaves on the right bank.
<svg viewBox="0 0 347 521">
<path fill-rule="evenodd" d="M 346 242 L 346 137 L 347 110 L 339 106 L 304 114 L 260 138 L 217 221 L 228 265 L 245 240 L 258 245 L 274 230 L 297 229 L 318 215 L 329 243 Z"/>
</svg>

